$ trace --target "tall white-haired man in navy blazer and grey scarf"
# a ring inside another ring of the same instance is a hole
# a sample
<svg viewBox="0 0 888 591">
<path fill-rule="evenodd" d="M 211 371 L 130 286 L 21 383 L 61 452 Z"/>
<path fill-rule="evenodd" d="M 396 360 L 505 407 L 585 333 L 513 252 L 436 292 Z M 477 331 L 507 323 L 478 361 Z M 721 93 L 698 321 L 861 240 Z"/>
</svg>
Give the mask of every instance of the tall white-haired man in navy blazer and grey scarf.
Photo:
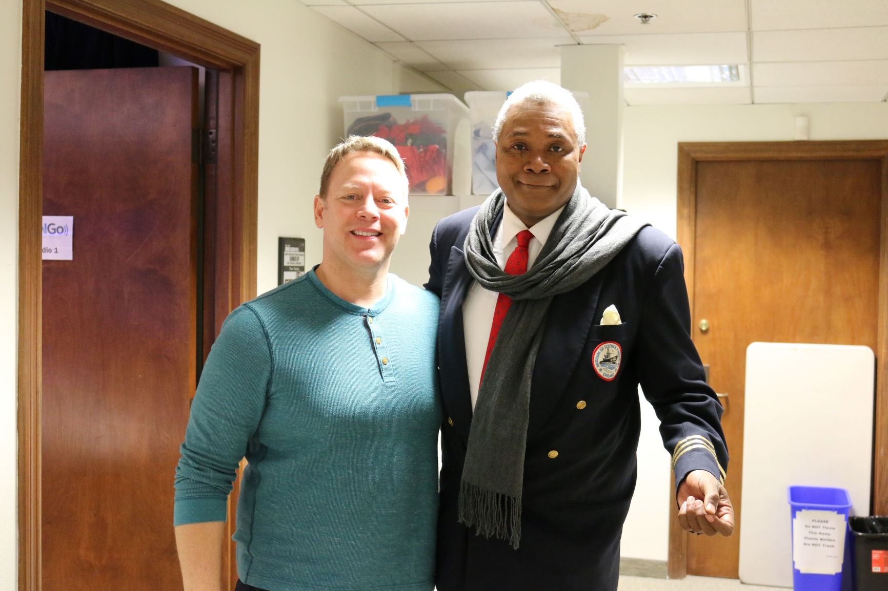
<svg viewBox="0 0 888 591">
<path fill-rule="evenodd" d="M 583 114 L 569 92 L 550 83 L 518 89 L 494 128 L 502 195 L 441 220 L 432 235 L 426 288 L 441 298 L 447 417 L 439 591 L 615 591 L 636 481 L 639 384 L 672 453 L 679 522 L 698 534 L 733 532 L 722 409 L 691 341 L 681 250 L 650 226 L 626 225 L 631 217 L 583 191 L 577 174 L 584 135 Z M 574 228 L 591 216 L 605 221 L 574 248 L 580 240 Z M 596 246 L 626 227 L 615 247 Z M 524 230 L 533 237 L 522 246 Z M 575 254 L 594 248 L 603 266 Z M 535 287 L 515 288 L 518 258 L 527 264 L 524 276 L 536 275 Z M 575 266 L 565 271 L 566 265 Z M 578 275 L 583 268 L 586 274 Z M 545 287 L 571 278 L 567 291 Z M 531 289 L 549 289 L 544 310 L 532 312 L 540 298 Z M 507 303 L 504 320 L 501 293 L 516 302 Z M 540 324 L 528 324 L 533 313 L 542 314 Z M 531 377 L 509 382 L 509 372 L 525 363 L 516 357 L 528 350 Z M 522 388 L 529 401 L 516 394 Z M 521 449 L 503 453 L 515 446 Z M 514 491 L 496 487 L 515 474 L 517 500 Z"/>
</svg>

